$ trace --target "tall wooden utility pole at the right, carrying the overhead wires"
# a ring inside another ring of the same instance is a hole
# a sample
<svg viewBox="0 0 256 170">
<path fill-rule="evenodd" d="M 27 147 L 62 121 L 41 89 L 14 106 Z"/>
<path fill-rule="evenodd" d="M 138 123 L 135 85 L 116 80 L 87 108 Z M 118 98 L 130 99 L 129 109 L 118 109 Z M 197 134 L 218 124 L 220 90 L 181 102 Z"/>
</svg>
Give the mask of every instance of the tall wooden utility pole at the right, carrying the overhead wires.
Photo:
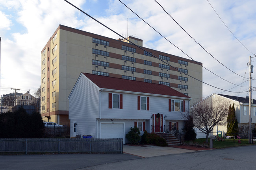
<svg viewBox="0 0 256 170">
<path fill-rule="evenodd" d="M 251 107 L 252 107 L 252 73 L 253 73 L 253 65 L 251 65 L 252 56 L 250 56 L 249 60 L 249 74 L 250 74 L 250 83 L 249 83 L 249 143 L 252 143 L 252 120 L 251 120 Z"/>
</svg>

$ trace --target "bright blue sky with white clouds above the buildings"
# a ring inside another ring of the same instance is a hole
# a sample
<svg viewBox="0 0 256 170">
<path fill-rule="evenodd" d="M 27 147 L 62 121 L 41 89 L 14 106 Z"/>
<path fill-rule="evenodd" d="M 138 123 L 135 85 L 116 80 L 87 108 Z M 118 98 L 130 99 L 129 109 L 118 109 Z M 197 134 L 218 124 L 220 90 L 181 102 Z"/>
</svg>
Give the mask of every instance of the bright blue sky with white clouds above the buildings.
<svg viewBox="0 0 256 170">
<path fill-rule="evenodd" d="M 249 96 L 247 63 L 249 56 L 256 53 L 255 0 L 157 0 L 218 61 L 189 37 L 155 0 L 121 1 L 183 52 L 119 0 L 69 0 L 123 36 L 127 36 L 129 18 L 128 35 L 142 39 L 144 47 L 202 62 L 217 75 L 203 69 L 203 81 L 211 85 L 203 84 L 203 97 L 212 93 Z M 40 86 L 41 50 L 59 24 L 120 38 L 64 0 L 0 0 L 1 95 L 13 93 L 11 88 L 22 93 L 31 90 L 33 94 Z M 254 65 L 255 60 L 252 58 Z M 256 81 L 252 80 L 252 87 L 255 86 Z M 256 99 L 256 92 L 252 92 L 252 97 Z"/>
</svg>

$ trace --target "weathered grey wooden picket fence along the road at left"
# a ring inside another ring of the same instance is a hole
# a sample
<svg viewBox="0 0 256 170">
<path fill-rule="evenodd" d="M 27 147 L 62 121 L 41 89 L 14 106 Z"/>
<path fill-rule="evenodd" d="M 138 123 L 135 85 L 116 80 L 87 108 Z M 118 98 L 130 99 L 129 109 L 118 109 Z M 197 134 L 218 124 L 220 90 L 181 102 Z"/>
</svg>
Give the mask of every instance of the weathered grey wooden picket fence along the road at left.
<svg viewBox="0 0 256 170">
<path fill-rule="evenodd" d="M 0 138 L 0 152 L 120 153 L 122 138 Z"/>
</svg>

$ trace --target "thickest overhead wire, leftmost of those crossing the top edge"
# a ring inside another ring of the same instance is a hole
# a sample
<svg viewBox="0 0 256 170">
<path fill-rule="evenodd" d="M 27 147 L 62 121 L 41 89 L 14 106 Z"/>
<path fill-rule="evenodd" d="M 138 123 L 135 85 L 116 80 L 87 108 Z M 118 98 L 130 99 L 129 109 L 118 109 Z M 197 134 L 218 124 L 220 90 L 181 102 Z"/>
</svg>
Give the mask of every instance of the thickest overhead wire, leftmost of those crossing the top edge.
<svg viewBox="0 0 256 170">
<path fill-rule="evenodd" d="M 76 9 L 78 9 L 79 11 L 81 11 L 82 13 L 84 13 L 85 15 L 89 16 L 90 18 L 92 18 L 93 20 L 95 20 L 96 22 L 98 22 L 100 25 L 106 27 L 107 29 L 109 29 L 109 30 L 112 31 L 113 33 L 115 33 L 115 34 L 121 36 L 122 38 L 124 38 L 125 40 L 127 40 L 128 42 L 130 42 L 128 39 L 126 39 L 125 37 L 123 37 L 121 34 L 117 33 L 117 32 L 114 31 L 114 30 L 112 30 L 112 29 L 109 28 L 108 26 L 102 24 L 101 22 L 99 22 L 98 20 L 96 20 L 95 18 L 93 18 L 91 15 L 85 13 L 82 9 L 76 7 L 75 5 L 71 4 L 71 3 L 70 3 L 69 1 L 67 1 L 67 0 L 64 0 L 64 1 L 67 2 L 68 4 L 72 5 L 73 7 L 75 7 Z M 141 48 L 140 46 L 136 45 L 135 43 L 133 43 L 133 42 L 130 42 L 130 43 L 132 43 L 133 45 L 135 45 L 135 46 L 138 47 L 139 49 L 142 49 L 143 51 L 149 53 L 148 51 L 146 51 L 145 49 L 143 49 L 143 48 Z M 154 55 L 152 54 L 152 56 L 154 56 Z M 157 58 L 156 56 L 154 56 L 154 57 Z M 159 58 L 157 58 L 157 59 L 158 59 L 158 60 L 161 60 L 161 59 L 159 59 Z M 165 61 L 163 61 L 163 60 L 161 60 L 161 61 L 162 61 L 163 63 L 166 63 L 167 65 L 171 66 L 172 68 L 176 69 L 177 71 L 179 71 L 176 67 L 173 67 L 173 66 L 170 65 L 169 63 L 167 63 L 167 62 L 165 62 Z M 179 71 L 179 72 L 182 72 L 182 71 Z M 186 74 L 185 72 L 183 72 L 183 73 Z M 202 82 L 202 83 L 204 83 L 204 84 L 206 84 L 206 85 L 209 85 L 209 86 L 211 86 L 211 87 L 214 87 L 214 88 L 216 88 L 216 89 L 224 90 L 224 89 L 221 89 L 221 88 L 219 88 L 219 87 L 215 87 L 215 86 L 213 86 L 213 85 L 210 85 L 209 83 L 206 83 L 206 82 L 203 82 L 203 81 L 201 81 L 201 80 L 198 80 L 197 78 L 194 78 L 193 76 L 190 76 L 189 74 L 186 74 L 186 75 L 189 76 L 189 77 L 191 77 L 191 78 L 193 78 L 193 79 L 195 79 L 195 80 L 197 80 L 197 81 L 200 81 L 200 82 Z M 233 92 L 233 91 L 228 91 L 228 90 L 226 90 L 226 91 L 227 91 L 227 92 Z M 237 93 L 237 92 L 233 92 L 233 93 Z"/>
</svg>

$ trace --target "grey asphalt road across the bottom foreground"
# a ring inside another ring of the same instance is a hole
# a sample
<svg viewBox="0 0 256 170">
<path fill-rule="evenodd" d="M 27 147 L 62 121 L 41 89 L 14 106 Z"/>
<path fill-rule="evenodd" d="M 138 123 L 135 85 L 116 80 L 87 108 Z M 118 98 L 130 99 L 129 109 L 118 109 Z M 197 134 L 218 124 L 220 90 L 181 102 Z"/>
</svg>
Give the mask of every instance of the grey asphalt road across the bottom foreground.
<svg viewBox="0 0 256 170">
<path fill-rule="evenodd" d="M 4 170 L 254 170 L 256 146 L 204 150 L 141 158 L 129 154 L 51 154 L 0 156 L 0 169 Z"/>
</svg>

